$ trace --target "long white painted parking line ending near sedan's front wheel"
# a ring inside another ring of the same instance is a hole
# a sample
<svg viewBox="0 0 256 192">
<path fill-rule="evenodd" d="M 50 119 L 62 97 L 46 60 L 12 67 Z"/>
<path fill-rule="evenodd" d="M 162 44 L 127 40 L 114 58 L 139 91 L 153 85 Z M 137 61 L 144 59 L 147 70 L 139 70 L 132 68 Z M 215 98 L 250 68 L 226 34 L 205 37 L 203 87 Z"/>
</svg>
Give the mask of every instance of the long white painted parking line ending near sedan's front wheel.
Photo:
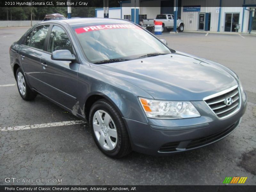
<svg viewBox="0 0 256 192">
<path fill-rule="evenodd" d="M 62 122 L 55 122 L 55 123 L 35 124 L 35 125 L 0 127 L 0 131 L 18 131 L 18 130 L 57 127 L 57 126 L 75 125 L 75 124 L 86 124 L 86 122 L 83 120 L 76 120 L 76 121 L 62 121 Z"/>
</svg>

